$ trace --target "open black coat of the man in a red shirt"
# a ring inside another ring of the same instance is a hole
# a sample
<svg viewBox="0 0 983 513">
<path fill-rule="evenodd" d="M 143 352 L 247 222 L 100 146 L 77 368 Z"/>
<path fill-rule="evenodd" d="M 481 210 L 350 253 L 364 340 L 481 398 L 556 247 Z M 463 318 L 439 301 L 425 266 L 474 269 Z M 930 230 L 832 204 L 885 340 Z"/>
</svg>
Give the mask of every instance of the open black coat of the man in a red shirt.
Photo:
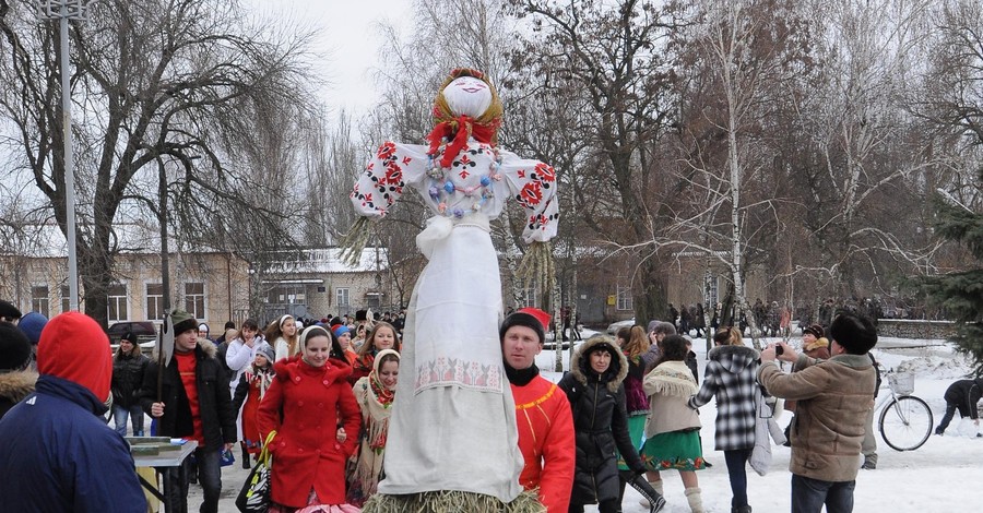
<svg viewBox="0 0 983 513">
<path fill-rule="evenodd" d="M 224 443 L 236 441 L 236 411 L 232 406 L 232 394 L 225 371 L 215 359 L 216 348 L 211 342 L 198 342 L 194 368 L 198 383 L 198 410 L 201 415 L 202 436 L 206 448 L 220 449 Z M 191 406 L 185 385 L 178 373 L 177 361 L 164 368 L 164 416 L 158 419 L 157 433 L 161 437 L 182 438 L 194 433 Z M 157 401 L 157 362 L 151 361 L 143 375 L 140 403 L 147 414 Z"/>
</svg>

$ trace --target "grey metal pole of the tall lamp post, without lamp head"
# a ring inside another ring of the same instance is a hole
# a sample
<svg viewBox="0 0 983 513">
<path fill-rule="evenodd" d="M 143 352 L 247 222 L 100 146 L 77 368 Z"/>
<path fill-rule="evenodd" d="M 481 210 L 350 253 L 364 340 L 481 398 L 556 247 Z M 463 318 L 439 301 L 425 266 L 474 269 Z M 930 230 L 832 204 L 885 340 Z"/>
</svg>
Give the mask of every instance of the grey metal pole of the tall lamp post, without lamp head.
<svg viewBox="0 0 983 513">
<path fill-rule="evenodd" d="M 64 129 L 66 239 L 69 250 L 69 308 L 79 310 L 79 260 L 75 255 L 75 171 L 72 155 L 72 92 L 69 76 L 68 2 L 61 4 L 61 116 Z"/>
</svg>

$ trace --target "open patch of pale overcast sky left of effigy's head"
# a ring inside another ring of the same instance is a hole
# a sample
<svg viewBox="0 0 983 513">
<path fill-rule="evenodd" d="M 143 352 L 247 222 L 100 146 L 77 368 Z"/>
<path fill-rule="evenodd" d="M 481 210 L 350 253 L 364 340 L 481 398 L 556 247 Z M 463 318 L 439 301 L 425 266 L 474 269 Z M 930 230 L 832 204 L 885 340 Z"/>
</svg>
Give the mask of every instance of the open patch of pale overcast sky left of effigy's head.
<svg viewBox="0 0 983 513">
<path fill-rule="evenodd" d="M 370 70 L 377 65 L 382 40 L 376 26 L 390 22 L 410 26 L 412 0 L 248 0 L 262 15 L 309 24 L 320 31 L 315 50 L 322 80 L 329 82 L 321 98 L 335 114 L 356 114 L 375 105 Z"/>
</svg>

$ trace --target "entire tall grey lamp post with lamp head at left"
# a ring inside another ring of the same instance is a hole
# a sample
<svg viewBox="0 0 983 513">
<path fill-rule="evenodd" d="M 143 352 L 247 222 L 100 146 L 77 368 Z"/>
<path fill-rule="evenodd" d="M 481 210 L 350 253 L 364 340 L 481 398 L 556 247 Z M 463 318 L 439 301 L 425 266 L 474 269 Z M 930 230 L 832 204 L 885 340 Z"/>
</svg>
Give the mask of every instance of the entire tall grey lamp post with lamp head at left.
<svg viewBox="0 0 983 513">
<path fill-rule="evenodd" d="M 61 128 L 64 131 L 64 210 L 69 260 L 69 308 L 79 310 L 79 259 L 75 254 L 75 171 L 72 155 L 72 92 L 69 81 L 69 20 L 85 20 L 91 0 L 40 0 L 40 15 L 61 23 Z"/>
</svg>

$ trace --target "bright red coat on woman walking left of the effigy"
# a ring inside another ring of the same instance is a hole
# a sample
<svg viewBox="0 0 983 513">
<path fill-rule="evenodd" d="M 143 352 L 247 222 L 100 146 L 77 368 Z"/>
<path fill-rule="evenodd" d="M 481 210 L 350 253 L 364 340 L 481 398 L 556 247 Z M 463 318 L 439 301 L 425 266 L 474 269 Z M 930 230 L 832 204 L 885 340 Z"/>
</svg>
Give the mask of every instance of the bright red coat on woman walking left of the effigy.
<svg viewBox="0 0 983 513">
<path fill-rule="evenodd" d="M 311 487 L 324 504 L 345 502 L 345 460 L 355 452 L 362 414 L 345 378 L 347 362 L 330 359 L 322 368 L 299 357 L 277 361 L 276 377 L 260 403 L 260 433 L 276 430 L 271 493 L 274 502 L 304 508 Z M 280 411 L 283 411 L 281 419 Z M 347 438 L 335 439 L 341 413 Z"/>
</svg>

